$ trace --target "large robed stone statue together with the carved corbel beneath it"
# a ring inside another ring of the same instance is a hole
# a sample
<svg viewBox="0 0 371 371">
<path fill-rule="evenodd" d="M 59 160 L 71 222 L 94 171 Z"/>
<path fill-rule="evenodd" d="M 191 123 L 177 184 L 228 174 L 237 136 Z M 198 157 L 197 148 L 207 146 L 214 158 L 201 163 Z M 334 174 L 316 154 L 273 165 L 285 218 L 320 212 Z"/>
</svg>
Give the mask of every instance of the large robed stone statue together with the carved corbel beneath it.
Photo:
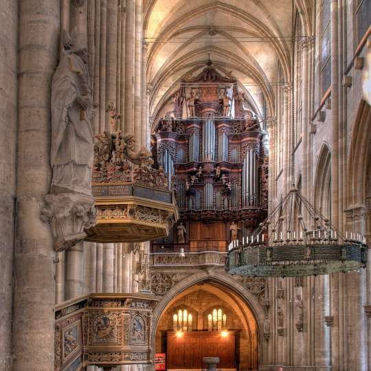
<svg viewBox="0 0 371 371">
<path fill-rule="evenodd" d="M 87 47 L 76 28 L 72 37 L 63 36 L 65 54 L 52 80 L 52 186 L 41 210 L 41 219 L 52 227 L 56 251 L 76 245 L 87 236 L 85 229 L 95 225 L 91 172 L 100 161 L 94 158 Z"/>
</svg>

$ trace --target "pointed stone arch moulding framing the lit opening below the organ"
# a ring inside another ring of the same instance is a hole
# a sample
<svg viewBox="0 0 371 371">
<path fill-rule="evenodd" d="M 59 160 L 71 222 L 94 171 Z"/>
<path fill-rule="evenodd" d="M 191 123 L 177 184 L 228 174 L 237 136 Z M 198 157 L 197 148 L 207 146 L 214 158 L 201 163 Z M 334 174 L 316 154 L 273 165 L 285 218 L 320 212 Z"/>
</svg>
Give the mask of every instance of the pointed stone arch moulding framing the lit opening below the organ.
<svg viewBox="0 0 371 371">
<path fill-rule="evenodd" d="M 226 292 L 233 293 L 238 297 L 244 304 L 249 308 L 254 320 L 256 322 L 256 328 L 258 333 L 258 364 L 263 363 L 265 355 L 267 353 L 267 341 L 264 341 L 263 336 L 263 324 L 265 320 L 265 310 L 260 304 L 258 297 L 253 293 L 249 292 L 242 284 L 237 282 L 232 278 L 232 276 L 227 275 L 226 273 L 220 273 L 216 271 L 208 271 L 202 273 L 194 273 L 191 276 L 188 276 L 172 286 L 172 288 L 162 297 L 162 299 L 157 303 L 153 311 L 153 326 L 151 328 L 151 342 L 152 348 L 155 352 L 155 339 L 157 333 L 157 326 L 159 326 L 159 320 L 161 315 L 166 312 L 170 304 L 179 297 L 181 293 L 190 289 L 192 286 L 202 283 L 211 283 L 218 284 L 223 286 Z"/>
</svg>

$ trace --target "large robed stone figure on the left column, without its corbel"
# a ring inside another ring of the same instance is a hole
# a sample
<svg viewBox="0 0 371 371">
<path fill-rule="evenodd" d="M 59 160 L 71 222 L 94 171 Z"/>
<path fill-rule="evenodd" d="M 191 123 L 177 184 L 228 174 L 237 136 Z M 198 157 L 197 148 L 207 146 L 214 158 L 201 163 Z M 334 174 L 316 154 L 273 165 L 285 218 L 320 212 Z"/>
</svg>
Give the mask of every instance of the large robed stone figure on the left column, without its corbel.
<svg viewBox="0 0 371 371">
<path fill-rule="evenodd" d="M 91 196 L 94 146 L 88 52 L 74 32 L 52 80 L 52 190 Z"/>
</svg>

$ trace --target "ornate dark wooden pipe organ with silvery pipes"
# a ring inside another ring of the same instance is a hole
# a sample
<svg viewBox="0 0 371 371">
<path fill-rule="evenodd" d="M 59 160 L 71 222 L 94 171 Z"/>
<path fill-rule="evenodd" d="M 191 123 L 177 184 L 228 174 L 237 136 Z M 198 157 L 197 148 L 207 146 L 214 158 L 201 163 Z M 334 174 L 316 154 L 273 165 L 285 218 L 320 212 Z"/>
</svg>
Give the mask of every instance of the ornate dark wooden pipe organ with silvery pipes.
<svg viewBox="0 0 371 371">
<path fill-rule="evenodd" d="M 238 81 L 223 76 L 210 60 L 199 76 L 181 81 L 172 111 L 155 126 L 152 146 L 157 166 L 175 186 L 186 233 L 181 228 L 179 236 L 175 225 L 170 236 L 153 242 L 153 252 L 197 252 L 205 246 L 226 251 L 236 238 L 232 222 L 241 240 L 267 215 L 265 133 L 245 98 Z"/>
</svg>

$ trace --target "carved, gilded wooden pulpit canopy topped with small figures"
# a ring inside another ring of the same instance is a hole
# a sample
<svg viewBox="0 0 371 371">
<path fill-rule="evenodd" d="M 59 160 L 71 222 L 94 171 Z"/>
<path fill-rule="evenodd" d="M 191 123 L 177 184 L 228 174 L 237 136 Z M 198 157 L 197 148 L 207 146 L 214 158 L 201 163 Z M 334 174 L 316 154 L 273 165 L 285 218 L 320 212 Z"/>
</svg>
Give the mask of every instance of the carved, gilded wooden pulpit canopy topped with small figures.
<svg viewBox="0 0 371 371">
<path fill-rule="evenodd" d="M 167 236 L 178 220 L 164 170 L 153 168 L 150 151 L 135 152 L 134 147 L 133 135 L 120 131 L 96 135 L 92 190 L 97 224 L 87 230 L 86 240 L 144 242 Z"/>
</svg>

